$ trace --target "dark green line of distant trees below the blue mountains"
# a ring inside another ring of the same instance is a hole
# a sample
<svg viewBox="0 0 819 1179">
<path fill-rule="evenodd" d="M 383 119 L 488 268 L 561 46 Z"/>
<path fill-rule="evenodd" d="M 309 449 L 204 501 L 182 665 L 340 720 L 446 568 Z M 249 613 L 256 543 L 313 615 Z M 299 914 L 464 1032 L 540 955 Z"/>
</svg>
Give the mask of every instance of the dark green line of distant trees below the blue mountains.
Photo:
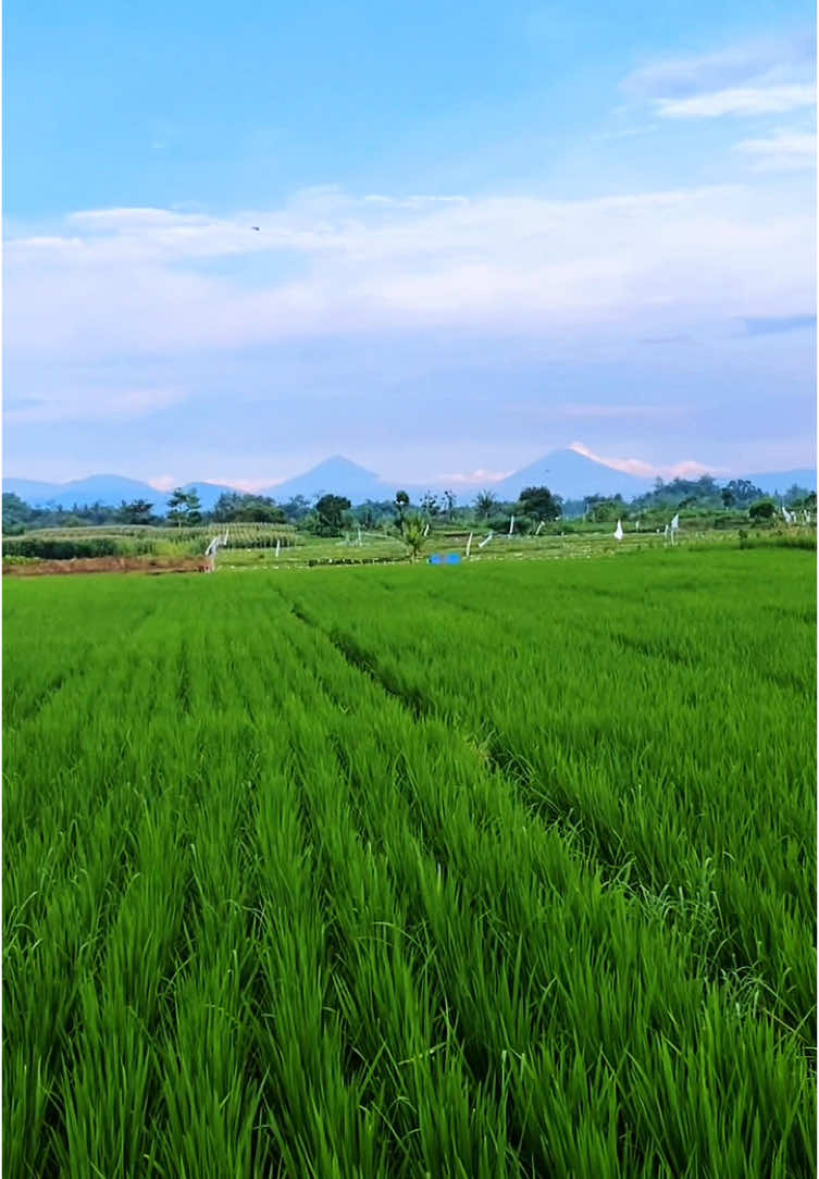
<svg viewBox="0 0 819 1179">
<path fill-rule="evenodd" d="M 782 496 L 787 508 L 815 509 L 817 496 L 804 487 L 793 486 Z M 71 508 L 54 506 L 33 507 L 19 495 L 2 496 L 2 529 L 6 535 L 20 535 L 37 528 L 87 528 L 94 525 L 197 526 L 207 523 L 286 523 L 319 535 L 338 534 L 344 527 L 384 528 L 401 525 L 408 513 L 438 523 L 483 523 L 490 528 L 506 528 L 511 516 L 520 532 L 542 523 L 583 519 L 592 523 L 646 518 L 668 512 L 713 515 L 748 513 L 767 515 L 762 505 L 774 505 L 759 487 L 748 480 L 718 483 L 711 475 L 699 479 L 658 479 L 654 488 L 629 501 L 622 496 L 587 495 L 579 500 L 563 500 L 548 487 L 528 487 L 520 498 L 502 501 L 491 489 L 480 492 L 469 503 L 461 505 L 451 492 L 427 492 L 411 502 L 407 492 L 396 492 L 395 499 L 354 505 L 343 495 L 325 494 L 306 499 L 297 495 L 277 503 L 264 495 L 239 492 L 223 494 L 211 512 L 204 512 L 196 492 L 177 488 L 169 495 L 165 512 L 157 512 L 148 500 L 132 500 L 119 505 L 75 503 Z"/>
</svg>

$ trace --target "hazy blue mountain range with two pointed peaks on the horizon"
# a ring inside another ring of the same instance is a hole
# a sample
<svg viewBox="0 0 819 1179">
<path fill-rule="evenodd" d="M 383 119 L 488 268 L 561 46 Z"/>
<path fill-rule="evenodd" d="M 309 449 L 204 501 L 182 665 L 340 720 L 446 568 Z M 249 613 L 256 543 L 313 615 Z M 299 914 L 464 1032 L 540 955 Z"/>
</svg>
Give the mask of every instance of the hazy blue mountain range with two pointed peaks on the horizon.
<svg viewBox="0 0 819 1179">
<path fill-rule="evenodd" d="M 817 472 L 811 468 L 762 472 L 742 477 L 751 480 L 768 495 L 781 494 L 794 483 L 806 487 L 808 490 L 815 490 L 817 487 Z M 483 486 L 493 490 L 498 499 L 515 500 L 524 487 L 541 485 L 546 485 L 557 495 L 562 495 L 564 500 L 579 500 L 584 495 L 617 494 L 628 500 L 649 490 L 654 481 L 616 470 L 614 467 L 589 459 L 577 450 L 553 450 L 522 470 L 494 483 L 487 481 Z M 389 482 L 371 470 L 359 467 L 349 459 L 336 456 L 325 459 L 324 462 L 303 475 L 266 487 L 260 494 L 270 495 L 283 503 L 296 495 L 312 499 L 325 492 L 332 492 L 335 495 L 345 495 L 352 503 L 363 503 L 364 500 L 391 500 L 398 486 L 396 482 Z M 402 486 L 414 500 L 417 500 L 428 488 L 434 492 L 444 489 L 444 483 L 440 481 L 425 485 L 404 483 Z M 198 492 L 205 512 L 212 511 L 224 492 L 236 490 L 235 487 L 224 483 L 194 482 L 185 485 L 186 490 L 193 488 Z M 14 492 L 20 499 L 34 507 L 55 505 L 70 508 L 74 503 L 80 506 L 98 501 L 100 503 L 119 503 L 123 500 L 144 499 L 148 500 L 156 509 L 164 511 L 169 498 L 167 492 L 157 490 L 150 483 L 125 479 L 121 475 L 90 475 L 87 479 L 75 479 L 70 483 L 4 479 L 2 489 L 4 492 Z M 480 488 L 476 485 L 469 488 L 461 486 L 460 489 L 457 487 L 453 489 L 463 502 L 471 500 Z"/>
</svg>

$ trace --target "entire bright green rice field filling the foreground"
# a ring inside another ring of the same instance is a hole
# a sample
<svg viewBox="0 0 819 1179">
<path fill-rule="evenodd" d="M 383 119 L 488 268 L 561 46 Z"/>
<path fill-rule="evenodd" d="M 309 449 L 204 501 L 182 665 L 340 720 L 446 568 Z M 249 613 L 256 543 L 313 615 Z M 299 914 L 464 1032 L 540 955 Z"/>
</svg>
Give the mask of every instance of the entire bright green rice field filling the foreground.
<svg viewBox="0 0 819 1179">
<path fill-rule="evenodd" d="M 8 1179 L 815 1174 L 815 552 L 4 590 Z"/>
</svg>

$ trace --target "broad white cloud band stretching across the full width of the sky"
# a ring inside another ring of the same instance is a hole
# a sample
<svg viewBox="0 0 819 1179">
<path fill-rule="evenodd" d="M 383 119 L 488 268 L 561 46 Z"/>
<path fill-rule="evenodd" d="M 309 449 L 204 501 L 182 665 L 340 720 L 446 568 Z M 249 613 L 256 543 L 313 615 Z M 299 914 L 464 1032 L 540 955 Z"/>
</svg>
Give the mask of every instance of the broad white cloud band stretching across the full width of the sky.
<svg viewBox="0 0 819 1179">
<path fill-rule="evenodd" d="M 92 210 L 8 242 L 6 349 L 31 368 L 429 328 L 667 338 L 812 307 L 813 229 L 798 191 L 759 185 L 451 203 L 321 190 L 229 218 Z"/>
</svg>

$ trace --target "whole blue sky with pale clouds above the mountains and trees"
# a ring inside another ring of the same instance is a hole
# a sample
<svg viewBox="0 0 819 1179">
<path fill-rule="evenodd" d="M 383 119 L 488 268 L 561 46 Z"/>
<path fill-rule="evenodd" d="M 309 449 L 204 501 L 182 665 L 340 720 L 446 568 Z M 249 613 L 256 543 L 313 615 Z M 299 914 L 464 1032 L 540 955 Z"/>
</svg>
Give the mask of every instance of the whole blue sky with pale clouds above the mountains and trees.
<svg viewBox="0 0 819 1179">
<path fill-rule="evenodd" d="M 811 466 L 814 137 L 806 0 L 13 0 L 4 473 Z"/>
</svg>

